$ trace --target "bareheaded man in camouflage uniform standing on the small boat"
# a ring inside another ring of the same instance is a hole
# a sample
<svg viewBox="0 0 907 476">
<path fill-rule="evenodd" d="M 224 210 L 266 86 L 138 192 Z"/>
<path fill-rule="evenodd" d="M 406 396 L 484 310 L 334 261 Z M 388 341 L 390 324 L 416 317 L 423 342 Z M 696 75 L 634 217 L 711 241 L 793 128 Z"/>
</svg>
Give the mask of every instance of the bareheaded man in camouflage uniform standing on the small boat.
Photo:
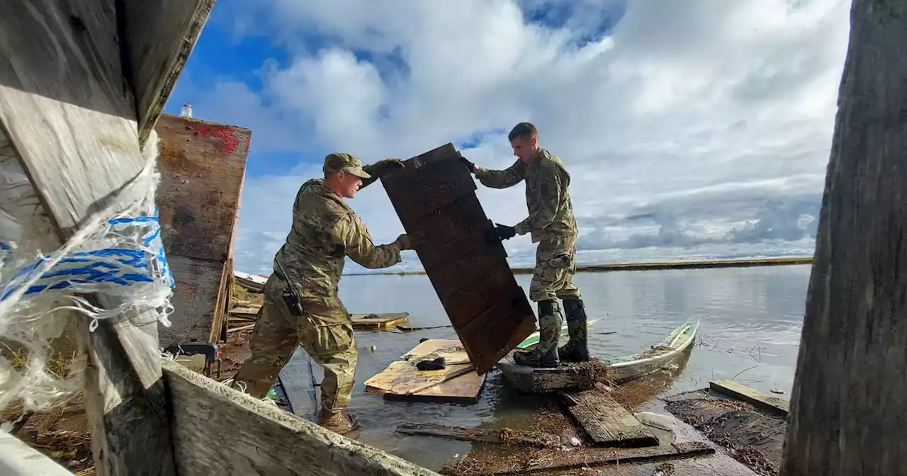
<svg viewBox="0 0 907 476">
<path fill-rule="evenodd" d="M 571 205 L 570 174 L 558 156 L 538 145 L 538 131 L 529 122 L 517 124 L 508 135 L 517 160 L 505 170 L 487 170 L 463 162 L 486 187 L 505 189 L 526 181 L 529 217 L 514 227 L 496 225 L 497 236 L 509 239 L 529 233 L 539 247 L 529 297 L 539 307 L 539 345 L 530 352 L 514 353 L 517 364 L 555 367 L 560 361 L 589 360 L 586 345 L 586 311 L 580 290 L 573 285 L 576 273 L 576 219 Z M 558 348 L 563 300 L 569 342 Z M 560 358 L 559 358 L 560 356 Z"/>
</svg>

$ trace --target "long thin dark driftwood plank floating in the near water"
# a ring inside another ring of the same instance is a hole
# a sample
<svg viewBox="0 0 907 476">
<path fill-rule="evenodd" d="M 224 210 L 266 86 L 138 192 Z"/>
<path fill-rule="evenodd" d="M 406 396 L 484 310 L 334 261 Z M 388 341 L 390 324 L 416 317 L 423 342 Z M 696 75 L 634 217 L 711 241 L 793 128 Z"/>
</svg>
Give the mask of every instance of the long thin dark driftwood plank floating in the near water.
<svg viewBox="0 0 907 476">
<path fill-rule="evenodd" d="M 551 433 L 523 432 L 501 428 L 485 430 L 481 428 L 464 428 L 437 423 L 403 423 L 396 432 L 406 435 L 436 436 L 464 442 L 486 442 L 512 444 L 516 446 L 533 446 L 536 448 L 561 448 L 561 438 Z"/>
</svg>

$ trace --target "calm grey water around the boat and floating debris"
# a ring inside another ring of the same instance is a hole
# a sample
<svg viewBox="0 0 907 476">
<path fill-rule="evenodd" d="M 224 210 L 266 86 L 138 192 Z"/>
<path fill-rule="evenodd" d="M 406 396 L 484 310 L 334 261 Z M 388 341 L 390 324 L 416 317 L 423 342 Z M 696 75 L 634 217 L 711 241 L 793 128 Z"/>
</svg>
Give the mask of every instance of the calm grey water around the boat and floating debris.
<svg viewBox="0 0 907 476">
<path fill-rule="evenodd" d="M 697 345 L 680 374 L 656 396 L 707 387 L 734 378 L 787 398 L 794 381 L 810 267 L 739 267 L 666 271 L 580 273 L 590 319 L 590 353 L 629 355 L 658 343 L 678 325 L 699 319 Z M 523 289 L 531 276 L 517 276 Z M 340 296 L 351 313 L 408 312 L 410 325 L 449 325 L 424 276 L 356 276 L 341 280 Z M 613 332 L 615 334 L 601 335 Z M 385 402 L 363 383 L 419 344 L 423 337 L 455 338 L 453 328 L 406 334 L 356 332 L 359 359 L 350 409 L 363 423 L 354 436 L 427 468 L 438 469 L 468 442 L 395 434 L 400 423 L 508 426 L 526 429 L 536 401 L 512 392 L 494 370 L 479 403 Z M 375 352 L 370 351 L 375 346 Z"/>
</svg>

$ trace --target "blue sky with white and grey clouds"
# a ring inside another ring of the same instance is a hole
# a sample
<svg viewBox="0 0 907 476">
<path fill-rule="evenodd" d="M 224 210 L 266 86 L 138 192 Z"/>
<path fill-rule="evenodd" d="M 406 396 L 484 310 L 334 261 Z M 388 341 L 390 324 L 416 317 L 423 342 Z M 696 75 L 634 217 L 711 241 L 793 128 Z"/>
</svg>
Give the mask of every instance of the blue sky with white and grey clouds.
<svg viewBox="0 0 907 476">
<path fill-rule="evenodd" d="M 167 112 L 190 102 L 252 130 L 240 270 L 269 273 L 327 152 L 405 159 L 453 142 L 504 168 L 519 121 L 571 173 L 582 262 L 810 255 L 849 4 L 219 0 Z M 510 225 L 523 193 L 478 190 Z M 403 232 L 380 183 L 350 204 L 375 243 Z M 532 263 L 528 237 L 506 246 Z"/>
</svg>

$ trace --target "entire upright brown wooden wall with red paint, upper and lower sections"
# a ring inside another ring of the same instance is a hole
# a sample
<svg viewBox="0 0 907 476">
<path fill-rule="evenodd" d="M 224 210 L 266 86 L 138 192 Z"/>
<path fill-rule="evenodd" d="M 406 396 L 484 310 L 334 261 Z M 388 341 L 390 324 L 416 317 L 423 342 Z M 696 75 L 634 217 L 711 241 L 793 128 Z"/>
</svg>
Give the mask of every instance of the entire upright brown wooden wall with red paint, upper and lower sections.
<svg viewBox="0 0 907 476">
<path fill-rule="evenodd" d="M 251 131 L 163 114 L 157 203 L 176 288 L 161 345 L 217 342 Z"/>
</svg>

